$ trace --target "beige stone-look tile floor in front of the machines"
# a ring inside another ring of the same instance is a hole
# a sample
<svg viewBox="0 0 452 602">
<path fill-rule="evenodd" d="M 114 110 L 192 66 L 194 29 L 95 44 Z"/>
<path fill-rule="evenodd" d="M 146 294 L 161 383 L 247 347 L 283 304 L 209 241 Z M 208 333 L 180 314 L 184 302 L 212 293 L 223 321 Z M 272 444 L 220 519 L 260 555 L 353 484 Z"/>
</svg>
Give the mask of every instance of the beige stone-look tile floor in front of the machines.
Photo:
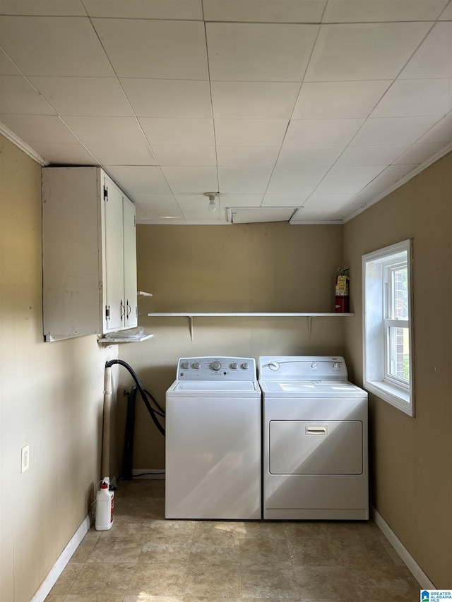
<svg viewBox="0 0 452 602">
<path fill-rule="evenodd" d="M 373 522 L 165 520 L 165 481 L 121 481 L 46 602 L 417 602 Z"/>
</svg>

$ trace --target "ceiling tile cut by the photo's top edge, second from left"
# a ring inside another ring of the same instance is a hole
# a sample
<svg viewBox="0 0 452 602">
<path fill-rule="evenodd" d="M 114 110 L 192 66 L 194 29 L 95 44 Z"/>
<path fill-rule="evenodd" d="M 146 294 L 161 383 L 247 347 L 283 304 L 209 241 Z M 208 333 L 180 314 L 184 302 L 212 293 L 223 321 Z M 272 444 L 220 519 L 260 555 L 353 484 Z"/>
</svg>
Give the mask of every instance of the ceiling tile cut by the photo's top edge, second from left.
<svg viewBox="0 0 452 602">
<path fill-rule="evenodd" d="M 203 18 L 201 0 L 83 0 L 83 6 L 90 17 L 189 20 Z"/>
</svg>

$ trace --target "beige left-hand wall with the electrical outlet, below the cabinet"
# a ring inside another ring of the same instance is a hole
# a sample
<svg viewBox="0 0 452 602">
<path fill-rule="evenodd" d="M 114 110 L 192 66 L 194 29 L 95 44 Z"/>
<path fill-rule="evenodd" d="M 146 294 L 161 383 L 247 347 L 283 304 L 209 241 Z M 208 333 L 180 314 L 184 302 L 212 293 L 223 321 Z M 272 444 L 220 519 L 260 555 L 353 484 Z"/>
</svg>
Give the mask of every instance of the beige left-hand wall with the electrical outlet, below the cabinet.
<svg viewBox="0 0 452 602">
<path fill-rule="evenodd" d="M 28 602 L 88 514 L 100 478 L 96 337 L 42 337 L 40 165 L 0 136 L 0 600 Z M 30 469 L 20 474 L 20 450 Z"/>
</svg>

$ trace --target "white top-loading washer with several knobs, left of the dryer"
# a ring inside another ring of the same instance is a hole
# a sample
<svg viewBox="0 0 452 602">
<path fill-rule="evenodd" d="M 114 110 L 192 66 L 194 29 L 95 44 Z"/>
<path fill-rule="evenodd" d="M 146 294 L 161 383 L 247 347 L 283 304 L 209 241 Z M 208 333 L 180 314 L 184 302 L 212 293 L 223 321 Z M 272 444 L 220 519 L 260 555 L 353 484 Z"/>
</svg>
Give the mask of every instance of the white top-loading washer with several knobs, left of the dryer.
<svg viewBox="0 0 452 602">
<path fill-rule="evenodd" d="M 261 519 L 254 359 L 179 359 L 165 424 L 165 518 Z"/>
</svg>

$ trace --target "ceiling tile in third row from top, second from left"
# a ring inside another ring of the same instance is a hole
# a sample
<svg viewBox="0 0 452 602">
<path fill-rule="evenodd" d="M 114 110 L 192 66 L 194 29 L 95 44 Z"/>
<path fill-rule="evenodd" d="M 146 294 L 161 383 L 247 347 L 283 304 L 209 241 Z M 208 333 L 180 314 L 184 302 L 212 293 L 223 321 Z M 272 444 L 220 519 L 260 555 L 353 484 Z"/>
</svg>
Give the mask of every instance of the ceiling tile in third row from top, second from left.
<svg viewBox="0 0 452 602">
<path fill-rule="evenodd" d="M 133 116 L 116 78 L 30 77 L 30 81 L 60 115 Z"/>
</svg>

